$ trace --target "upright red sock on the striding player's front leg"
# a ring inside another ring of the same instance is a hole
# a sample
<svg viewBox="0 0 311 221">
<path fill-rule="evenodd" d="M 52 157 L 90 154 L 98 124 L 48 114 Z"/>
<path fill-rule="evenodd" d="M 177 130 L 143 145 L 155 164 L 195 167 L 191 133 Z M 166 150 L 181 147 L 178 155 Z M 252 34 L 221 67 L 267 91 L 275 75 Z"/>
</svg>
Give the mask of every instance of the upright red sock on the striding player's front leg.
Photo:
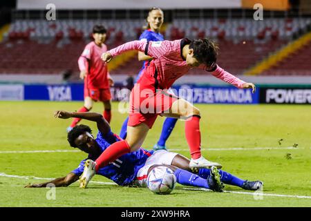
<svg viewBox="0 0 311 221">
<path fill-rule="evenodd" d="M 187 119 L 185 132 L 191 158 L 198 159 L 201 156 L 200 116 L 194 115 Z"/>
</svg>

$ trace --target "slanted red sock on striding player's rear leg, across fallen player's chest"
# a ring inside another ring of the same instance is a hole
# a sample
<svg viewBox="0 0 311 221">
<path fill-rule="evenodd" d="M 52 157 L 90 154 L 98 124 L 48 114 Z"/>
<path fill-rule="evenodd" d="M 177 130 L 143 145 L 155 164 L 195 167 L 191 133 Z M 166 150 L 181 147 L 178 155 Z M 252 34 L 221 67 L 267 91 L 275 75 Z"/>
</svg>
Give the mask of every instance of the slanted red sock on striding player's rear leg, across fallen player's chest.
<svg viewBox="0 0 311 221">
<path fill-rule="evenodd" d="M 131 147 L 126 142 L 126 140 L 121 140 L 119 142 L 115 142 L 111 144 L 106 150 L 97 158 L 95 171 L 98 171 L 104 166 L 107 166 L 110 162 L 117 160 L 117 158 L 121 157 L 126 153 L 131 152 Z"/>
</svg>

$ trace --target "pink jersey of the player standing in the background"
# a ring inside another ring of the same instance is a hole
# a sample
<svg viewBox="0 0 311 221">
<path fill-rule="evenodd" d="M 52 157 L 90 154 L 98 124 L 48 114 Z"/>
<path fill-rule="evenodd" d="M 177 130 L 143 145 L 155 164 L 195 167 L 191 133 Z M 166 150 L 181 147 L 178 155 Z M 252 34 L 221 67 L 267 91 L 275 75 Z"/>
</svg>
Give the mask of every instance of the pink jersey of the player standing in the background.
<svg viewBox="0 0 311 221">
<path fill-rule="evenodd" d="M 84 84 L 88 88 L 109 88 L 108 68 L 100 58 L 102 53 L 107 51 L 107 46 L 97 46 L 94 41 L 86 45 L 82 55 L 79 57 L 79 69 L 86 70 L 87 76 Z"/>
</svg>

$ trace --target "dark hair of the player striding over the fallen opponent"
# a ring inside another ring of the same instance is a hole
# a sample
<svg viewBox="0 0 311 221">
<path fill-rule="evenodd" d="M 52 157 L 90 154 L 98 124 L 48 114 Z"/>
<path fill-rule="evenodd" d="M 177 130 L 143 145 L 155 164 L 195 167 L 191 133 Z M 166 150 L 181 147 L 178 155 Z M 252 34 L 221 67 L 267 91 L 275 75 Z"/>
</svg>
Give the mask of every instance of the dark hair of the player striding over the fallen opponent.
<svg viewBox="0 0 311 221">
<path fill-rule="evenodd" d="M 216 65 L 218 46 L 211 39 L 196 39 L 191 41 L 189 48 L 194 50 L 194 57 L 201 63 L 213 68 Z"/>
</svg>

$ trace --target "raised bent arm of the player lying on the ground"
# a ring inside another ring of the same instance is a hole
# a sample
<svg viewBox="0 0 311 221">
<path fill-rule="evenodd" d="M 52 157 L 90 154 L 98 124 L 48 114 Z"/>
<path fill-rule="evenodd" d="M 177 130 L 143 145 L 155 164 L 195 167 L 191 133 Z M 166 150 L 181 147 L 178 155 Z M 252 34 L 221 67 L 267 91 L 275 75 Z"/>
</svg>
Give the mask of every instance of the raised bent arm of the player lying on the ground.
<svg viewBox="0 0 311 221">
<path fill-rule="evenodd" d="M 111 131 L 109 123 L 104 119 L 104 117 L 99 113 L 93 113 L 93 112 L 67 112 L 67 111 L 55 111 L 54 117 L 62 118 L 62 119 L 68 119 L 70 117 L 77 117 L 82 119 L 87 119 L 91 122 L 97 123 L 97 128 L 102 133 L 102 135 L 106 135 Z"/>
</svg>

